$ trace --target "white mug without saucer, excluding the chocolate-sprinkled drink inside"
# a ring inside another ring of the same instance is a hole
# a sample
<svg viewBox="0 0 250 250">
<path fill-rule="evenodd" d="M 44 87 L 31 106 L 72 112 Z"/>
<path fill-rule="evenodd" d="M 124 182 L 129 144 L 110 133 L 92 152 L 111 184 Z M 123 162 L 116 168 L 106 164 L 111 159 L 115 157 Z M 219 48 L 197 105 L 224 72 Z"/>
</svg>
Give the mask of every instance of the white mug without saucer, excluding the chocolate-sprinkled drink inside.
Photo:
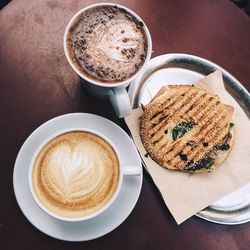
<svg viewBox="0 0 250 250">
<path fill-rule="evenodd" d="M 68 50 L 67 50 L 67 44 L 66 44 L 67 33 L 68 33 L 71 25 L 74 23 L 74 21 L 77 19 L 77 17 L 81 13 L 83 13 L 87 9 L 91 9 L 93 7 L 96 7 L 96 6 L 107 6 L 107 5 L 108 6 L 117 6 L 119 8 L 125 9 L 128 13 L 130 13 L 132 16 L 134 16 L 137 20 L 142 22 L 144 24 L 143 29 L 145 31 L 147 44 L 148 44 L 147 56 L 146 56 L 145 62 L 143 63 L 141 68 L 138 70 L 138 72 L 136 74 L 134 74 L 132 77 L 130 77 L 129 79 L 126 79 L 125 81 L 120 81 L 118 83 L 101 83 L 99 81 L 95 81 L 95 80 L 87 77 L 86 75 L 84 75 L 72 63 L 71 58 L 70 58 L 69 53 L 68 53 Z M 109 99 L 114 110 L 115 110 L 115 113 L 118 117 L 121 118 L 121 117 L 127 116 L 131 112 L 131 104 L 130 104 L 128 93 L 126 91 L 126 87 L 131 83 L 132 80 L 134 80 L 142 72 L 142 70 L 145 68 L 146 63 L 149 61 L 149 59 L 151 57 L 151 53 L 152 53 L 151 36 L 150 36 L 149 30 L 148 30 L 147 26 L 145 25 L 145 23 L 143 22 L 143 20 L 136 13 L 134 13 L 132 10 L 130 10 L 122 5 L 119 5 L 119 4 L 114 4 L 114 3 L 93 4 L 93 5 L 87 6 L 86 8 L 81 9 L 71 18 L 71 20 L 69 21 L 69 23 L 65 29 L 63 43 L 64 43 L 64 53 L 66 55 L 66 58 L 67 58 L 69 64 L 71 65 L 73 70 L 81 78 L 83 78 L 85 80 L 83 83 L 83 86 L 86 89 L 86 91 L 92 96 L 102 98 L 102 99 Z"/>
</svg>

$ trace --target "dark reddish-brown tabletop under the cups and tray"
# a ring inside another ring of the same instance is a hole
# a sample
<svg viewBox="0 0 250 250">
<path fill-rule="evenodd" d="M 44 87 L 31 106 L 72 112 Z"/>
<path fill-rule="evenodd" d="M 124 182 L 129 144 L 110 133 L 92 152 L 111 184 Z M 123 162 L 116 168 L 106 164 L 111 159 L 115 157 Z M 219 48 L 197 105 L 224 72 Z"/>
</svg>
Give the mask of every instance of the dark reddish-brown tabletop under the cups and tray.
<svg viewBox="0 0 250 250">
<path fill-rule="evenodd" d="M 12 174 L 17 153 L 34 129 L 61 114 L 89 112 L 126 130 L 108 102 L 85 94 L 64 57 L 67 22 L 93 2 L 14 0 L 0 12 L 0 249 L 249 249 L 250 223 L 222 226 L 192 217 L 177 226 L 146 174 L 131 215 L 99 239 L 55 240 L 23 216 Z M 153 56 L 184 52 L 207 58 L 250 89 L 250 20 L 230 1 L 117 3 L 144 19 L 152 34 Z"/>
</svg>

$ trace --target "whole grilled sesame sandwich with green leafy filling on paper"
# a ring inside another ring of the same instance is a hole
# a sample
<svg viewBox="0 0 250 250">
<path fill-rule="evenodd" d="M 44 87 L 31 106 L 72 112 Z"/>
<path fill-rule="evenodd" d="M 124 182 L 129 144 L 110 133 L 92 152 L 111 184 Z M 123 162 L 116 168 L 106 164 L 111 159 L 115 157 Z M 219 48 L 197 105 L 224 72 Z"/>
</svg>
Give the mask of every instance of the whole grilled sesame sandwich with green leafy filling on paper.
<svg viewBox="0 0 250 250">
<path fill-rule="evenodd" d="M 169 86 L 147 106 L 140 122 L 143 145 L 161 166 L 207 172 L 231 151 L 233 108 L 190 85 Z"/>
</svg>

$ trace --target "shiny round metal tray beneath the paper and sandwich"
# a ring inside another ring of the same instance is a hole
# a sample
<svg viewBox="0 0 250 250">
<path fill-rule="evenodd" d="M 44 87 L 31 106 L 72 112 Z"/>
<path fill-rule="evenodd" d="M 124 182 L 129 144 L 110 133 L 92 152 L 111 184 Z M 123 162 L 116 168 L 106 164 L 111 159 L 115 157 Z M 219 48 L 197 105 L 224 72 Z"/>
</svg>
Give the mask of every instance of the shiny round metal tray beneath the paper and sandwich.
<svg viewBox="0 0 250 250">
<path fill-rule="evenodd" d="M 142 74 L 130 85 L 129 96 L 133 108 L 147 104 L 162 86 L 192 84 L 220 69 L 227 91 L 250 117 L 250 95 L 242 84 L 220 66 L 188 54 L 166 54 L 148 62 Z M 250 183 L 213 203 L 196 214 L 198 217 L 224 225 L 250 221 Z"/>
</svg>

